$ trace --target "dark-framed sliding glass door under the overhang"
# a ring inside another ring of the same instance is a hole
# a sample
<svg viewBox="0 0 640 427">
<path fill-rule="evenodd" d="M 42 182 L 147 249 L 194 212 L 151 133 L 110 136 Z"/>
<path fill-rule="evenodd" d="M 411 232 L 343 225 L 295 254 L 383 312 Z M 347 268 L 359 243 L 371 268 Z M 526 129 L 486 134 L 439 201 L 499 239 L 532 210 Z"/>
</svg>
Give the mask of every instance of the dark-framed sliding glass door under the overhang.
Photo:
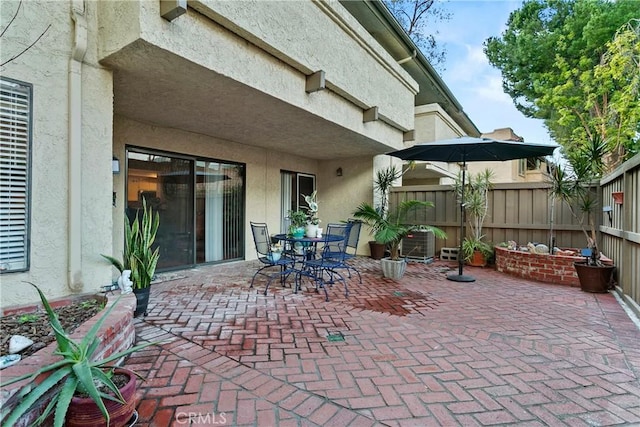
<svg viewBox="0 0 640 427">
<path fill-rule="evenodd" d="M 158 270 L 244 257 L 244 165 L 127 151 L 127 215 L 160 214 Z"/>
</svg>

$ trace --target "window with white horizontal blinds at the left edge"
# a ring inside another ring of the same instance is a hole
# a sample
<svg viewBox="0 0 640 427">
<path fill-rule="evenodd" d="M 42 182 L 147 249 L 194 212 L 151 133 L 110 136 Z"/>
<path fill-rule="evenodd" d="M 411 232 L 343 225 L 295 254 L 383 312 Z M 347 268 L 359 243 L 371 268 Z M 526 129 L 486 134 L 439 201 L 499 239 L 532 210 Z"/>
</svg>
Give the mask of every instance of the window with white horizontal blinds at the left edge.
<svg viewBox="0 0 640 427">
<path fill-rule="evenodd" d="M 0 273 L 29 268 L 31 89 L 0 78 Z"/>
</svg>

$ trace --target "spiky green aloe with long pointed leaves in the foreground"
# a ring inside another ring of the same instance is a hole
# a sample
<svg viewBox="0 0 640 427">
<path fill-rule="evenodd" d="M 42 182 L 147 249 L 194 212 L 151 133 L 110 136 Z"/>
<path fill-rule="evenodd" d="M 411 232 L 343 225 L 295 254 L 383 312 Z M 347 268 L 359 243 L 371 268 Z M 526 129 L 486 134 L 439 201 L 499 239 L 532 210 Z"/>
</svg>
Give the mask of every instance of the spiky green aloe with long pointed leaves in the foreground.
<svg viewBox="0 0 640 427">
<path fill-rule="evenodd" d="M 53 395 L 52 400 L 44 412 L 36 420 L 36 425 L 42 424 L 55 409 L 54 427 L 64 426 L 67 409 L 69 408 L 71 399 L 77 392 L 89 396 L 96 403 L 107 420 L 108 425 L 109 413 L 102 399 L 124 403 L 122 394 L 111 379 L 111 372 L 115 366 L 111 366 L 110 364 L 124 356 L 157 343 L 149 342 L 137 345 L 128 350 L 114 353 L 104 359 L 94 360 L 95 352 L 100 344 L 98 331 L 111 310 L 116 306 L 120 297 L 105 311 L 82 341 L 77 342 L 71 339 L 69 334 L 65 332 L 56 313 L 52 310 L 42 291 L 33 283 L 29 284 L 36 288 L 40 295 L 40 300 L 47 312 L 49 324 L 53 329 L 58 344 L 54 354 L 62 356 L 62 359 L 43 366 L 32 374 L 22 375 L 2 384 L 4 387 L 24 379 L 29 379 L 27 384 L 22 387 L 17 392 L 17 396 L 15 396 L 20 403 L 11 410 L 7 410 L 5 407 L 0 413 L 2 425 L 6 427 L 13 426 L 20 417 L 36 404 L 39 399 L 44 398 L 47 392 L 58 383 L 62 385 L 60 392 Z M 38 383 L 40 379 L 42 379 L 42 381 Z M 101 386 L 104 386 L 104 390 L 106 391 L 103 391 L 103 387 Z"/>
</svg>

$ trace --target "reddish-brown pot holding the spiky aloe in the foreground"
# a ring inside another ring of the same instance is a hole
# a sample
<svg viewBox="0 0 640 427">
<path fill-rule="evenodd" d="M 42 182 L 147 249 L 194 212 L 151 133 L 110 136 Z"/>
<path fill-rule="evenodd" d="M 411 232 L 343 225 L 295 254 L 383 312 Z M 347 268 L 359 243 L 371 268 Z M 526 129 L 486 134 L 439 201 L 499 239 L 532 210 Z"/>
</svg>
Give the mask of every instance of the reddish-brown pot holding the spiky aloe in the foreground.
<svg viewBox="0 0 640 427">
<path fill-rule="evenodd" d="M 126 369 L 115 370 L 116 374 L 123 374 L 129 377 L 129 381 L 120 389 L 125 404 L 113 400 L 105 400 L 104 405 L 109 412 L 109 427 L 124 427 L 129 425 L 129 420 L 133 417 L 136 408 L 136 376 Z M 100 412 L 98 405 L 93 399 L 88 397 L 73 397 L 67 410 L 65 419 L 66 427 L 106 427 L 107 420 Z"/>
</svg>

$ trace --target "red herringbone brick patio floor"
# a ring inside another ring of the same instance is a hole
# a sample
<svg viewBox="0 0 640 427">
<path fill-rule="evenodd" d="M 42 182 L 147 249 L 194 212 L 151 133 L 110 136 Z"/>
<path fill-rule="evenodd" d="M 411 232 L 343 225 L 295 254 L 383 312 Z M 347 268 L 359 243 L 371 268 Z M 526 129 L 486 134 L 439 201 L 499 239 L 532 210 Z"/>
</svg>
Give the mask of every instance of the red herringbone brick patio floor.
<svg viewBox="0 0 640 427">
<path fill-rule="evenodd" d="M 139 426 L 640 425 L 640 330 L 613 294 L 410 263 L 302 293 L 257 261 L 161 276 L 126 366 Z"/>
</svg>

